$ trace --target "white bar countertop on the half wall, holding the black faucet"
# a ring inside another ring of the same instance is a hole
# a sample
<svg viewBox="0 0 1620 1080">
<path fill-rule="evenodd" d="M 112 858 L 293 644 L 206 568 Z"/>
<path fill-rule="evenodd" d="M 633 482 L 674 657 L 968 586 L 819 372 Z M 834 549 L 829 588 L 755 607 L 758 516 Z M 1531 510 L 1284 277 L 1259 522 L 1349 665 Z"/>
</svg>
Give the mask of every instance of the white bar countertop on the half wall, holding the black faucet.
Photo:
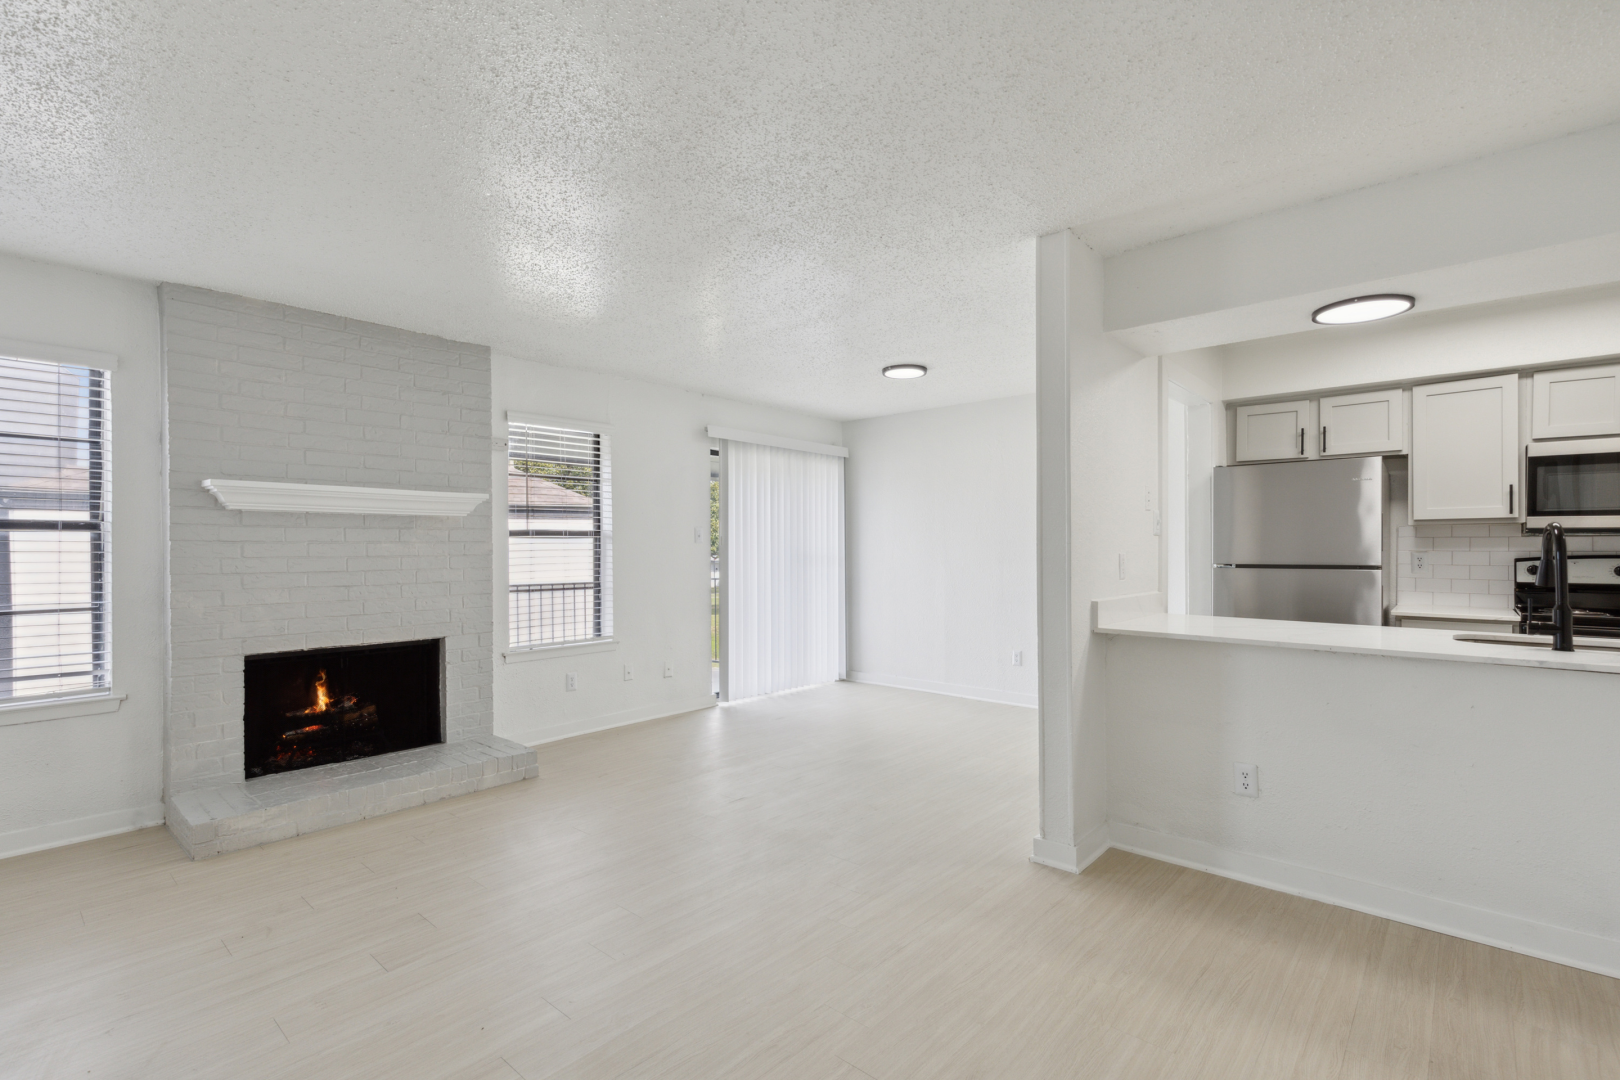
<svg viewBox="0 0 1620 1080">
<path fill-rule="evenodd" d="M 1173 638 L 1215 644 L 1260 644 L 1314 653 L 1398 656 L 1413 661 L 1503 664 L 1620 675 L 1620 651 L 1554 653 L 1523 644 L 1458 641 L 1452 630 L 1408 627 L 1356 627 L 1332 622 L 1283 622 L 1280 619 L 1226 619 L 1221 615 L 1166 615 L 1094 602 L 1097 633 L 1134 638 Z"/>
</svg>

